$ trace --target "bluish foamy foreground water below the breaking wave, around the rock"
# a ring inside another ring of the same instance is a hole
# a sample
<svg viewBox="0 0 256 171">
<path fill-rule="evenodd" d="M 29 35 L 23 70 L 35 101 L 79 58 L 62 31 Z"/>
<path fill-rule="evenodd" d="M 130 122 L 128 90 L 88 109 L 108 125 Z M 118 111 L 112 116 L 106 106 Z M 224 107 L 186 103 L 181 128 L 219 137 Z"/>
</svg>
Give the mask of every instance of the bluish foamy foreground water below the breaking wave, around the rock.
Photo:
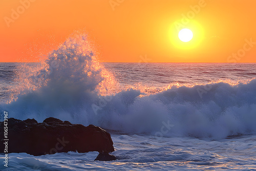
<svg viewBox="0 0 256 171">
<path fill-rule="evenodd" d="M 43 156 L 11 153 L 8 168 L 1 164 L 0 170 L 254 170 L 255 138 L 208 141 L 112 134 L 115 161 L 94 161 L 98 152 Z M 3 160 L 0 155 L 0 163 Z"/>
</svg>

